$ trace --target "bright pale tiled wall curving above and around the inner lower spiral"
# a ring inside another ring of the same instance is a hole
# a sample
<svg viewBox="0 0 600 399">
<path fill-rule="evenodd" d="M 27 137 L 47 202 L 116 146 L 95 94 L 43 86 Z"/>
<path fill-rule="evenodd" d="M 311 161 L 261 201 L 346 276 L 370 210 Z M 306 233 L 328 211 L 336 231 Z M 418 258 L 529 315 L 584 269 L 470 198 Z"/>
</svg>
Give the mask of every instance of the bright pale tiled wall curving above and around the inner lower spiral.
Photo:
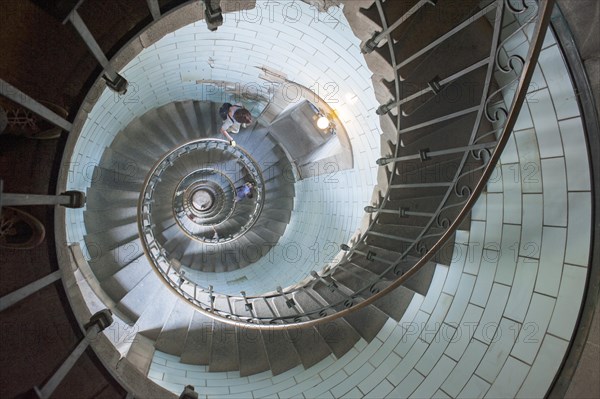
<svg viewBox="0 0 600 399">
<path fill-rule="evenodd" d="M 295 208 L 284 236 L 254 265 L 227 273 L 202 273 L 216 290 L 249 295 L 275 290 L 308 276 L 333 259 L 363 216 L 376 184 L 379 157 L 379 105 L 370 72 L 341 10 L 318 14 L 305 3 L 261 3 L 254 10 L 225 15 L 217 32 L 204 21 L 167 34 L 145 48 L 122 70 L 131 87 L 125 96 L 104 90 L 89 112 L 71 159 L 68 189 L 85 191 L 104 149 L 135 117 L 163 104 L 187 100 L 224 100 L 221 91 L 198 80 L 239 83 L 248 91 L 269 84 L 258 67 L 268 66 L 288 79 L 315 89 L 337 111 L 350 137 L 354 169 L 296 183 Z M 280 27 L 285 24 L 285 31 Z M 297 94 L 290 85 L 289 97 Z M 298 100 L 300 97 L 298 97 Z M 67 211 L 68 241 L 85 251 L 82 210 Z M 276 270 L 276 273 L 273 271 Z M 197 274 L 200 274 L 199 272 Z"/>
</svg>

